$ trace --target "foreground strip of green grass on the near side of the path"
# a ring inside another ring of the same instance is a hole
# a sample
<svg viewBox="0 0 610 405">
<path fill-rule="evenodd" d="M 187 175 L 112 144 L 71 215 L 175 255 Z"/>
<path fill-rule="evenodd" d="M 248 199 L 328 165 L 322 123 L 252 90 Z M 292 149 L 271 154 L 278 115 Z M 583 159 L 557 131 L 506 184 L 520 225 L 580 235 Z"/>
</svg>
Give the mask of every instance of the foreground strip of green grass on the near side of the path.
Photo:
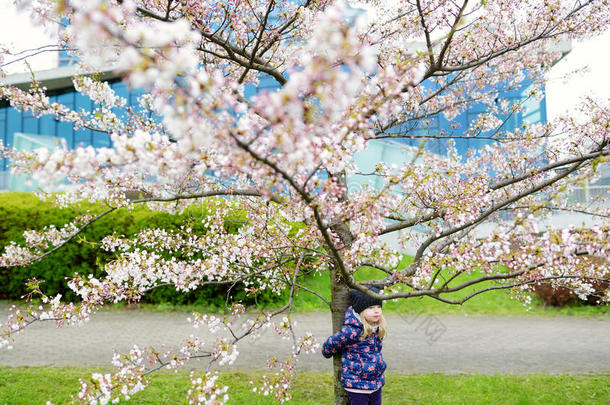
<svg viewBox="0 0 610 405">
<path fill-rule="evenodd" d="M 0 367 L 0 404 L 29 405 L 70 402 L 78 392 L 78 378 L 93 369 Z M 229 385 L 229 403 L 274 404 L 272 398 L 252 392 L 256 373 L 224 372 L 219 381 Z M 136 404 L 186 404 L 188 373 L 162 372 L 150 386 L 133 396 Z M 610 375 L 386 375 L 384 404 L 607 404 Z M 293 404 L 330 404 L 332 381 L 328 373 L 299 373 Z"/>
</svg>

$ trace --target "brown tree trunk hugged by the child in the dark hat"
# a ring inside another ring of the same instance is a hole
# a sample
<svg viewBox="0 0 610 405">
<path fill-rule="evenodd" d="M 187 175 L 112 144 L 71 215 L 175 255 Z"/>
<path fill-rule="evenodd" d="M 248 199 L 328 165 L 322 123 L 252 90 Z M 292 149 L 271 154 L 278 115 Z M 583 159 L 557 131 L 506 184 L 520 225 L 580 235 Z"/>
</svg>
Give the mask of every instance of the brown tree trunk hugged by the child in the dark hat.
<svg viewBox="0 0 610 405">
<path fill-rule="evenodd" d="M 330 291 L 331 291 L 331 313 L 333 322 L 333 333 L 341 329 L 343 325 L 343 315 L 349 306 L 349 289 L 341 281 L 339 271 L 332 268 L 330 271 Z M 338 353 L 333 357 L 333 377 L 335 387 L 334 405 L 349 405 L 347 393 L 341 385 L 341 354 Z"/>
</svg>

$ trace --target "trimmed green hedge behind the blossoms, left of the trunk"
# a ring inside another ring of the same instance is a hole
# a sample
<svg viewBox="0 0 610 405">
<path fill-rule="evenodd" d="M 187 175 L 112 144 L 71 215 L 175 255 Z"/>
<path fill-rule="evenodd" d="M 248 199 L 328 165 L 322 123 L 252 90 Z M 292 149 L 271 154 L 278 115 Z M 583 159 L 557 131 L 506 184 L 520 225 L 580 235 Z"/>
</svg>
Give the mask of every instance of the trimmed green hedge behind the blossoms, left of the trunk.
<svg viewBox="0 0 610 405">
<path fill-rule="evenodd" d="M 102 212 L 103 207 L 83 204 L 83 211 Z M 41 288 L 47 295 L 63 294 L 68 300 L 75 300 L 75 294 L 67 288 L 66 277 L 74 273 L 103 274 L 101 266 L 114 256 L 99 248 L 99 241 L 106 235 L 116 233 L 131 236 L 145 228 L 164 228 L 178 230 L 190 224 L 197 232 L 205 232 L 201 225 L 205 207 L 193 207 L 181 215 L 172 215 L 137 206 L 133 209 L 122 208 L 103 217 L 89 226 L 81 235 L 50 254 L 42 261 L 27 267 L 0 268 L 0 299 L 19 299 L 27 293 L 25 283 L 35 277 L 44 280 Z M 0 193 L 0 251 L 11 241 L 24 242 L 23 232 L 29 229 L 41 230 L 45 226 L 60 228 L 81 212 L 72 209 L 59 209 L 52 204 L 40 201 L 30 193 Z M 225 227 L 235 231 L 236 221 L 227 221 Z M 143 297 L 143 302 L 170 304 L 203 304 L 212 308 L 225 306 L 228 287 L 206 286 L 189 293 L 178 292 L 172 287 L 159 287 Z M 246 297 L 243 287 L 231 290 L 231 297 L 243 300 L 245 304 L 254 303 L 253 297 Z M 276 300 L 276 295 L 265 292 L 256 297 L 259 304 Z"/>
</svg>

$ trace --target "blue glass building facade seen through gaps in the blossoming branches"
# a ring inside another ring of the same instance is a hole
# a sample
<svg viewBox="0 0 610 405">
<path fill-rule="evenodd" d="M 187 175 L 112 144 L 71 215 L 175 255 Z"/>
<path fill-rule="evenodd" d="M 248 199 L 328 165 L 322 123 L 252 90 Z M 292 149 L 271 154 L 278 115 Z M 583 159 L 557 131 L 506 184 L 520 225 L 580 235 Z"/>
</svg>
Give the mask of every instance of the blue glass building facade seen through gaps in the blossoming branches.
<svg viewBox="0 0 610 405">
<path fill-rule="evenodd" d="M 75 91 L 72 76 L 76 73 L 74 66 L 69 62 L 67 55 L 60 58 L 61 66 L 36 73 L 37 80 L 47 88 L 47 94 L 51 102 L 61 103 L 76 110 L 92 111 L 94 102 L 86 96 Z M 131 90 L 112 71 L 101 72 L 100 78 L 107 81 L 116 94 L 125 100 L 127 105 L 138 106 L 138 97 L 143 93 L 140 90 Z M 10 75 L 0 79 L 1 83 L 13 85 L 27 90 L 31 85 L 30 74 Z M 246 97 L 252 97 L 258 92 L 269 91 L 278 88 L 271 77 L 261 76 L 257 87 L 246 88 Z M 522 103 L 523 108 L 516 113 L 505 117 L 499 117 L 503 122 L 500 130 L 513 131 L 523 123 L 545 123 L 547 122 L 546 97 L 531 98 L 530 83 L 524 82 L 518 89 L 499 91 L 497 101 L 505 100 L 508 103 Z M 411 121 L 409 128 L 396 128 L 397 132 L 408 130 L 409 134 L 447 134 L 464 136 L 470 123 L 479 114 L 485 111 L 482 104 L 472 104 L 451 121 L 443 114 L 437 114 L 426 119 Z M 31 112 L 19 111 L 13 108 L 8 101 L 0 101 L 0 141 L 3 145 L 14 147 L 21 151 L 31 151 L 39 147 L 54 148 L 63 143 L 68 148 L 78 146 L 108 147 L 111 146 L 108 134 L 95 132 L 89 129 L 74 129 L 73 125 L 61 122 L 51 116 L 36 117 Z M 388 165 L 400 165 L 411 159 L 411 148 L 405 146 L 417 146 L 420 139 L 396 138 L 380 139 L 369 142 L 366 150 L 355 156 L 356 164 L 362 172 L 370 172 L 378 162 Z M 465 156 L 469 149 L 478 149 L 492 142 L 489 139 L 456 138 L 455 146 L 459 154 Z M 444 155 L 447 152 L 445 139 L 427 140 L 426 149 Z M 586 202 L 597 195 L 608 194 L 610 187 L 610 169 L 603 168 L 602 179 L 592 184 L 589 188 L 574 193 L 574 198 L 580 202 Z M 358 187 L 363 183 L 370 184 L 371 178 L 365 176 L 352 176 L 348 183 L 352 187 Z M 372 184 L 376 186 L 375 184 Z M 10 162 L 8 159 L 0 159 L 0 190 L 12 191 L 34 191 L 35 185 L 29 185 L 26 179 L 10 175 Z"/>
</svg>

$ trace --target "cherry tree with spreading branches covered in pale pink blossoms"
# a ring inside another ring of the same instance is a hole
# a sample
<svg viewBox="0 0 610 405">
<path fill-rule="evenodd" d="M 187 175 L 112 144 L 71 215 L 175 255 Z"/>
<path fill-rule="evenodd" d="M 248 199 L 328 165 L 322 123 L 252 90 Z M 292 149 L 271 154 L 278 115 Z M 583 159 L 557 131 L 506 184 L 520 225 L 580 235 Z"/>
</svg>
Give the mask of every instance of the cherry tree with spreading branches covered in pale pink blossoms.
<svg viewBox="0 0 610 405">
<path fill-rule="evenodd" d="M 112 147 L 2 149 L 15 173 L 27 173 L 43 189 L 66 178 L 71 183 L 65 193 L 41 198 L 60 207 L 98 201 L 107 210 L 61 228 L 26 231 L 25 244 L 7 247 L 0 265 L 43 260 L 101 217 L 142 204 L 173 213 L 203 204 L 207 232 L 185 225 L 179 232 L 144 229 L 131 239 L 108 235 L 101 248 L 116 259 L 104 265 L 105 276 L 68 281 L 81 301 L 48 296 L 32 280 L 31 295 L 44 305 L 13 307 L 0 345 L 34 322 L 78 324 L 108 303 L 137 301 L 161 285 L 288 292 L 275 312 L 252 316 L 233 303 L 231 319 L 193 314 L 194 326 L 229 337 L 191 336 L 176 352 L 134 347 L 117 354 L 118 371 L 83 381 L 78 401 L 129 398 L 154 370 L 178 369 L 193 358 L 231 363 L 242 339 L 270 325 L 290 340 L 293 354 L 275 359 L 277 374 L 254 390 L 289 400 L 298 356 L 317 347 L 310 334 L 293 332 L 297 291 L 328 304 L 338 330 L 350 288 L 383 300 L 428 296 L 460 305 L 490 290 L 519 297 L 536 283 L 587 296 L 608 277 L 607 265 L 588 261 L 608 257 L 606 205 L 568 198 L 599 175 L 610 154 L 607 100 L 583 100 L 584 119 L 566 115 L 514 131 L 503 129 L 501 117 L 523 104 L 496 102 L 498 88 L 517 88 L 525 79 L 535 84 L 528 97 L 543 96 L 544 75 L 561 56 L 557 42 L 605 30 L 607 0 L 16 2 L 37 23 L 68 22 L 60 44 L 78 57 L 83 74 L 74 78 L 75 88 L 96 109 L 52 103 L 36 83 L 29 91 L 0 87 L 0 97 L 38 116 L 110 134 Z M 5 53 L 3 63 L 10 58 Z M 139 110 L 84 74 L 107 66 L 129 86 L 146 89 Z M 263 76 L 279 88 L 246 97 Z M 460 135 L 413 129 L 437 114 L 452 120 L 472 103 L 486 111 Z M 454 141 L 461 137 L 490 142 L 460 156 Z M 383 138 L 421 142 L 400 167 L 378 162 L 373 172 L 359 172 L 354 154 Z M 447 143 L 446 155 L 426 149 L 433 140 Z M 381 186 L 348 187 L 356 175 Z M 229 233 L 223 221 L 235 210 L 245 219 Z M 591 215 L 596 225 L 541 226 L 558 211 Z M 406 267 L 395 246 L 416 247 Z M 356 282 L 363 266 L 386 276 Z M 473 278 L 475 271 L 480 275 Z M 328 276 L 330 300 L 302 285 L 312 272 Z M 372 293 L 371 284 L 383 292 Z M 607 291 L 600 297 L 609 298 Z M 339 365 L 334 359 L 335 403 L 345 404 Z M 191 379 L 191 403 L 224 403 L 230 395 L 213 373 Z"/>
</svg>

